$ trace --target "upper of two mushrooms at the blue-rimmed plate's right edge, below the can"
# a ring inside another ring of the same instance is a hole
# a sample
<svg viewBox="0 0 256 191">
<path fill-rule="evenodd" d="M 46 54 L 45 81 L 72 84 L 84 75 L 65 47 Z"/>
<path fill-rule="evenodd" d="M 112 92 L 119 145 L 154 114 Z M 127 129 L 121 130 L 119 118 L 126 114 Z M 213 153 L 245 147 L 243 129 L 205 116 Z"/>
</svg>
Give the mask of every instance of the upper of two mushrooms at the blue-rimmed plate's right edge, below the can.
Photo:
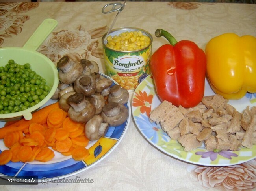
<svg viewBox="0 0 256 191">
<path fill-rule="evenodd" d="M 113 85 L 109 90 L 108 102 L 117 102 L 125 104 L 129 99 L 129 92 L 127 89 L 122 88 L 120 85 Z"/>
</svg>

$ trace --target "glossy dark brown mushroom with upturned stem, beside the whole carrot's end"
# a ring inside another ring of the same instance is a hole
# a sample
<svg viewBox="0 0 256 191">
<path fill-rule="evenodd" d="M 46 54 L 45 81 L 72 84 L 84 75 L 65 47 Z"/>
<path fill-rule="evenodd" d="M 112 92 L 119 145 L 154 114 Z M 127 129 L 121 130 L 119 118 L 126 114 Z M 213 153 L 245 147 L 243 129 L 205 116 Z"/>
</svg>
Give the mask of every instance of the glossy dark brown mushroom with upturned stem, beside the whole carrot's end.
<svg viewBox="0 0 256 191">
<path fill-rule="evenodd" d="M 75 122 L 85 123 L 95 115 L 95 106 L 82 93 L 69 96 L 67 102 L 71 106 L 68 115 Z"/>
</svg>

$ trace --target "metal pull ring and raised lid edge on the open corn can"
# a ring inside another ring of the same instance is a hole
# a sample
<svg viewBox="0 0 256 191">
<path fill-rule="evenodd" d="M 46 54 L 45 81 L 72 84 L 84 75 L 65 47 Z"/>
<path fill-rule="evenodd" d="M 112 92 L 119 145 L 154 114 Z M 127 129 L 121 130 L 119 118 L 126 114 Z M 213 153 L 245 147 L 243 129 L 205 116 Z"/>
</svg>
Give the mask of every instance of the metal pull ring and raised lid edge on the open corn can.
<svg viewBox="0 0 256 191">
<path fill-rule="evenodd" d="M 117 2 L 117 3 L 109 3 L 109 4 L 106 4 L 106 5 L 102 8 L 102 13 L 106 14 L 106 13 L 112 13 L 112 12 L 114 12 L 114 11 L 118 11 L 118 12 L 117 12 L 117 15 L 118 15 L 122 10 L 124 10 L 125 5 L 126 5 L 126 0 L 124 1 L 124 3 Z M 109 7 L 110 7 L 110 10 L 108 10 Z M 114 26 L 114 24 L 115 24 L 115 21 L 117 20 L 117 15 L 115 16 L 115 19 L 113 20 L 111 26 L 109 27 L 108 33 L 106 34 L 105 39 L 107 38 L 109 32 L 110 32 L 111 29 L 113 28 L 113 26 Z"/>
</svg>

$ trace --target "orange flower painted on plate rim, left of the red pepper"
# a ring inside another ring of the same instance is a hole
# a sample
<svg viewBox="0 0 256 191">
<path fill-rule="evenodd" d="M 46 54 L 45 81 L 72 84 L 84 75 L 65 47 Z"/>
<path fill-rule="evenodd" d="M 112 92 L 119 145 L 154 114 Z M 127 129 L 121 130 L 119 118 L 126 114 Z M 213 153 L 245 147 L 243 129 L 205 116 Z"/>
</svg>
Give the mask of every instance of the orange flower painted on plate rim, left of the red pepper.
<svg viewBox="0 0 256 191">
<path fill-rule="evenodd" d="M 140 107 L 141 113 L 146 113 L 147 116 L 149 116 L 153 95 L 147 95 L 145 91 L 139 91 L 139 93 L 135 92 L 134 97 L 135 98 L 133 99 L 132 106 Z"/>
</svg>

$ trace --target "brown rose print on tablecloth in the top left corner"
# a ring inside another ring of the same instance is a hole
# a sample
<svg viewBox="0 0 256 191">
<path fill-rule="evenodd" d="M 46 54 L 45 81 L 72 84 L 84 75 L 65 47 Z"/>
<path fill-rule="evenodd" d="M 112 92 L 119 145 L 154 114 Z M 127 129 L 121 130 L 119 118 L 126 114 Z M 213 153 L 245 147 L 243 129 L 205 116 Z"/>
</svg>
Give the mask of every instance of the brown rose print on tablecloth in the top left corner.
<svg viewBox="0 0 256 191">
<path fill-rule="evenodd" d="M 39 3 L 30 2 L 0 3 L 0 46 L 4 43 L 4 38 L 22 32 L 22 26 L 30 19 L 30 16 L 21 14 L 38 6 Z"/>
</svg>

